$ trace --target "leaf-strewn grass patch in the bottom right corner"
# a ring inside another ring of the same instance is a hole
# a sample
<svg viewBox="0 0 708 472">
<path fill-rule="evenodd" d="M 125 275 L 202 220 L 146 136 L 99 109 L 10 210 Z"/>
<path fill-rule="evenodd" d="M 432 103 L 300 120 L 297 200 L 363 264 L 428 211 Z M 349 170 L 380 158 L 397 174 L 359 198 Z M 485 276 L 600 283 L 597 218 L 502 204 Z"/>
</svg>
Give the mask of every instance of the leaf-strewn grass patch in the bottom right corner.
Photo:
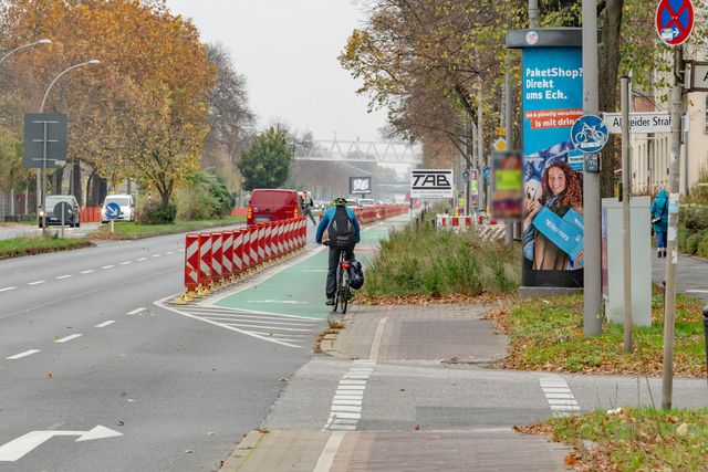
<svg viewBox="0 0 708 472">
<path fill-rule="evenodd" d="M 708 409 L 627 408 L 549 421 L 553 437 L 575 447 L 582 470 L 708 470 Z M 583 440 L 594 441 L 587 450 Z"/>
</svg>

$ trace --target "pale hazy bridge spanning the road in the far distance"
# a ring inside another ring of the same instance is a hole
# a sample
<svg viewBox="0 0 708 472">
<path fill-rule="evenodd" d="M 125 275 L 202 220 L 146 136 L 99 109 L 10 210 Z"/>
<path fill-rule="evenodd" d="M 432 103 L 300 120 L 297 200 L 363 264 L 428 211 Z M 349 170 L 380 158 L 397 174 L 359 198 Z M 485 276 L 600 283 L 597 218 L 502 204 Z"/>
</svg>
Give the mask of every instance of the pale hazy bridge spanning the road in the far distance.
<svg viewBox="0 0 708 472">
<path fill-rule="evenodd" d="M 423 158 L 419 147 L 395 141 L 313 140 L 293 147 L 295 160 L 415 165 Z"/>
</svg>

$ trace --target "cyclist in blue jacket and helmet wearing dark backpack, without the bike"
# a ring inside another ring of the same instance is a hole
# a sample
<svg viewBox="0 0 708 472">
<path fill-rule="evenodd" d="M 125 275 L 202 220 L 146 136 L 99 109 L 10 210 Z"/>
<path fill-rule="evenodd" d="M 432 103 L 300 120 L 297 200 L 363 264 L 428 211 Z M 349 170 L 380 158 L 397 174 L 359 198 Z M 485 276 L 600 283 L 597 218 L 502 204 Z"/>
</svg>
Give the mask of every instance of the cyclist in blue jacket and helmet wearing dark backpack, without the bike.
<svg viewBox="0 0 708 472">
<path fill-rule="evenodd" d="M 327 305 L 334 305 L 336 293 L 336 270 L 340 263 L 340 253 L 344 251 L 347 261 L 354 259 L 354 247 L 360 242 L 360 228 L 356 214 L 346 208 L 346 199 L 337 198 L 332 202 L 332 208 L 324 212 L 317 227 L 315 241 L 322 244 L 324 230 L 327 230 L 330 242 L 330 265 L 327 269 L 327 284 L 325 294 Z"/>
</svg>

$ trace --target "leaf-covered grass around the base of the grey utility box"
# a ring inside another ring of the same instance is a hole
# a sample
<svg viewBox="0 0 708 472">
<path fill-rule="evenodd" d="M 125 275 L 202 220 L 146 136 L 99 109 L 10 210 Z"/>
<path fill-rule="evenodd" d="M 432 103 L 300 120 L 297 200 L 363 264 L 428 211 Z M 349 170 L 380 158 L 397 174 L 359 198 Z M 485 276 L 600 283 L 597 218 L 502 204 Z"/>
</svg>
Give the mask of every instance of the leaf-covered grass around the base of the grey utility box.
<svg viewBox="0 0 708 472">
<path fill-rule="evenodd" d="M 635 327 L 635 350 L 625 354 L 621 325 L 603 324 L 601 336 L 583 335 L 582 295 L 548 300 L 514 300 L 490 315 L 509 335 L 504 367 L 566 373 L 662 373 L 664 300 L 652 300 L 652 326 Z M 705 337 L 701 305 L 679 295 L 676 311 L 675 370 L 679 376 L 705 376 Z"/>
</svg>

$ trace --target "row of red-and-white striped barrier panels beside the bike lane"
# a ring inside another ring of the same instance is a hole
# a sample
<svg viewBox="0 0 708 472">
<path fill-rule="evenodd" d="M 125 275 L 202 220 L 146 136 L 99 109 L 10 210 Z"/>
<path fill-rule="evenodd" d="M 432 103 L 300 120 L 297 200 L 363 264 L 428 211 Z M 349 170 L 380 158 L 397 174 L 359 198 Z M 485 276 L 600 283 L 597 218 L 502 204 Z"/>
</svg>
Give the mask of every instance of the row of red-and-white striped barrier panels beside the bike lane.
<svg viewBox="0 0 708 472">
<path fill-rule="evenodd" d="M 186 305 L 302 252 L 308 242 L 304 218 L 252 224 L 185 237 L 185 293 L 171 301 Z"/>
</svg>

